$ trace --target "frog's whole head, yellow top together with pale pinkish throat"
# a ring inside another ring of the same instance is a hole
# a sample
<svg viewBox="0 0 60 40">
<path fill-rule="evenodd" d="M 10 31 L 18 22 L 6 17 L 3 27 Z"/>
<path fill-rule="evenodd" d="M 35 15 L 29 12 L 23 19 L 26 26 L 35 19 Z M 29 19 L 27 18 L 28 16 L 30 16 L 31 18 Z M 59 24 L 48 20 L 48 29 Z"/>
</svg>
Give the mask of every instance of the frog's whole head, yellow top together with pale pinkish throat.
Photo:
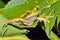
<svg viewBox="0 0 60 40">
<path fill-rule="evenodd" d="M 23 22 L 25 25 L 32 25 L 33 22 L 37 19 L 38 16 L 38 8 L 34 8 L 32 11 L 28 11 L 24 16 L 24 20 L 27 22 Z"/>
</svg>

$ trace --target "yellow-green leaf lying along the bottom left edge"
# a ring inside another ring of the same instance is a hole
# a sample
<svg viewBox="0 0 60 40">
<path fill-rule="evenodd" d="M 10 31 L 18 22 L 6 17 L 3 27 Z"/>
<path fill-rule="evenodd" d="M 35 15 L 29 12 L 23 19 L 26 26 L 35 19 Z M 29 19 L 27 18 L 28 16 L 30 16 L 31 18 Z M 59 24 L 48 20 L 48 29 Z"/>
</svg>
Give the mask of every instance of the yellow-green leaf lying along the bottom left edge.
<svg viewBox="0 0 60 40">
<path fill-rule="evenodd" d="M 11 36 L 11 37 L 0 37 L 0 40 L 30 40 L 25 35 Z"/>
</svg>

